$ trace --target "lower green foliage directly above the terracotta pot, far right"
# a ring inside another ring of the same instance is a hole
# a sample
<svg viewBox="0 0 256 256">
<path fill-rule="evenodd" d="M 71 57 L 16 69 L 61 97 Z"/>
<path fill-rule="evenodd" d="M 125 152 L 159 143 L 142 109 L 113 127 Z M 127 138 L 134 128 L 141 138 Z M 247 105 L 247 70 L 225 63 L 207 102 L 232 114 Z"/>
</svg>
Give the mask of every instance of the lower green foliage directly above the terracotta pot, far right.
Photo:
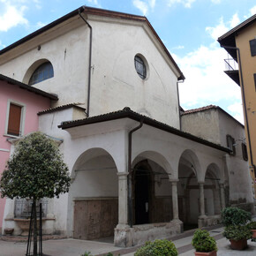
<svg viewBox="0 0 256 256">
<path fill-rule="evenodd" d="M 252 237 L 252 231 L 248 226 L 230 225 L 225 227 L 223 236 L 229 240 L 242 240 L 250 239 Z"/>
</svg>

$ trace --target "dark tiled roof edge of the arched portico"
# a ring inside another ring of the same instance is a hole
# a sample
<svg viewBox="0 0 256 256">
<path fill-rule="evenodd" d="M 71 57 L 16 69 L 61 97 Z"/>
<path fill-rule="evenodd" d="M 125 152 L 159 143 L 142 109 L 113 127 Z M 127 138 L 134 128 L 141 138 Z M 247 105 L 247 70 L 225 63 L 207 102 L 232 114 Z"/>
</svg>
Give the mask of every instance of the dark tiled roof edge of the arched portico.
<svg viewBox="0 0 256 256">
<path fill-rule="evenodd" d="M 206 145 L 208 147 L 214 147 L 218 150 L 222 150 L 224 152 L 230 153 L 230 149 L 228 147 L 222 147 L 215 143 L 209 142 L 206 139 L 201 139 L 199 137 L 196 137 L 188 132 L 182 132 L 168 124 L 159 122 L 151 117 L 140 115 L 139 113 L 132 111 L 128 107 L 125 107 L 122 110 L 110 112 L 110 113 L 95 116 L 95 117 L 87 117 L 87 118 L 79 119 L 79 120 L 65 121 L 62 124 L 58 125 L 58 128 L 62 128 L 63 130 L 65 130 L 65 129 L 69 129 L 72 127 L 77 127 L 77 126 L 82 126 L 82 125 L 87 125 L 87 124 L 97 124 L 97 123 L 102 123 L 102 122 L 107 122 L 107 121 L 112 121 L 112 120 L 117 120 L 117 119 L 122 119 L 122 118 L 130 118 L 130 119 L 138 121 L 138 122 L 143 120 L 143 124 L 147 124 L 154 128 L 160 129 L 162 131 L 176 134 L 177 136 L 183 137 L 185 139 L 191 139 L 192 141 L 198 142 L 198 143 Z"/>
</svg>

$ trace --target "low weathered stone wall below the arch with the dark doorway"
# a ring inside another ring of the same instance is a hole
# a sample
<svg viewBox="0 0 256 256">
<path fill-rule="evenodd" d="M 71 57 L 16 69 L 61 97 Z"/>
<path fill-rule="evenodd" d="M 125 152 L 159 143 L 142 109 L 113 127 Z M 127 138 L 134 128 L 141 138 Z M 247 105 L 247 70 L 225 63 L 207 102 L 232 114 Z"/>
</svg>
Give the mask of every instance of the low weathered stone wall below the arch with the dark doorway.
<svg viewBox="0 0 256 256">
<path fill-rule="evenodd" d="M 118 247 L 131 247 L 142 245 L 146 241 L 155 239 L 169 239 L 183 231 L 183 222 L 174 220 L 171 222 L 151 223 L 135 225 L 132 228 L 124 227 L 115 229 L 114 245 Z"/>
</svg>

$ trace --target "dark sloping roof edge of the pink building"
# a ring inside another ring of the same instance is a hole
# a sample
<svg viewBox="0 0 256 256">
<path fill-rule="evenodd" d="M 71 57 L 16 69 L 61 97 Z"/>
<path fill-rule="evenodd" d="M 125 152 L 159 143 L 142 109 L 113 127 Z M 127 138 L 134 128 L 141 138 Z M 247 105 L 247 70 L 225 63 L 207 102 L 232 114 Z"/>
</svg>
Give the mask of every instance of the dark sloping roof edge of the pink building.
<svg viewBox="0 0 256 256">
<path fill-rule="evenodd" d="M 9 77 L 6 77 L 6 76 L 4 76 L 2 74 L 0 74 L 0 80 L 5 81 L 8 84 L 11 84 L 13 86 L 17 86 L 17 87 L 19 87 L 21 89 L 25 89 L 26 91 L 29 91 L 31 93 L 39 94 L 39 95 L 41 95 L 43 97 L 47 97 L 50 100 L 53 100 L 53 101 L 57 101 L 58 100 L 58 97 L 57 97 L 56 94 L 49 94 L 49 93 L 41 91 L 40 89 L 37 89 L 35 87 L 27 86 L 26 84 L 23 84 L 23 83 L 15 80 L 15 79 L 11 79 Z"/>
</svg>

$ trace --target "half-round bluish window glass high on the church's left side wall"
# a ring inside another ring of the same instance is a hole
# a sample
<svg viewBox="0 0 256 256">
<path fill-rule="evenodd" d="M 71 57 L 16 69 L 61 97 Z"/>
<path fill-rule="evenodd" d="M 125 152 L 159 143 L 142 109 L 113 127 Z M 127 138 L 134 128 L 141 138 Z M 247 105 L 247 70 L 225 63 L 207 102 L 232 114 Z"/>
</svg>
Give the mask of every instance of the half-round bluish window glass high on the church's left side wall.
<svg viewBox="0 0 256 256">
<path fill-rule="evenodd" d="M 28 85 L 33 86 L 34 84 L 40 83 L 46 79 L 50 79 L 53 76 L 52 64 L 50 62 L 43 63 L 34 71 L 29 79 Z"/>
</svg>

